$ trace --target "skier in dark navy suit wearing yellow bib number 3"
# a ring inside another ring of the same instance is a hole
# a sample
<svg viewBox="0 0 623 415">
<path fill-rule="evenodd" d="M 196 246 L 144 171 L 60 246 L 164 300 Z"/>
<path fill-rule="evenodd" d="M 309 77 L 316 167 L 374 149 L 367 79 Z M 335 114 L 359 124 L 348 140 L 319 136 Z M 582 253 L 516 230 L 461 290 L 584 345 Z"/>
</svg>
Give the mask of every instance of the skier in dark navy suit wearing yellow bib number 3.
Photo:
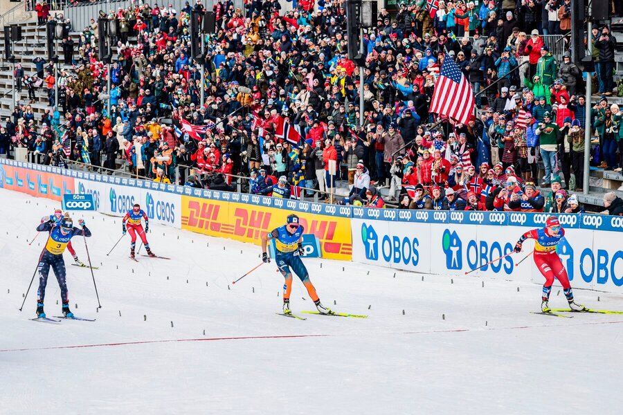
<svg viewBox="0 0 623 415">
<path fill-rule="evenodd" d="M 69 213 L 65 213 L 60 221 L 49 219 L 37 226 L 39 232 L 50 232 L 46 246 L 39 257 L 39 291 L 37 291 L 37 317 L 45 318 L 44 298 L 46 295 L 46 285 L 48 284 L 48 273 L 50 266 L 56 275 L 58 285 L 61 290 L 62 311 L 65 317 L 73 317 L 73 313 L 69 311 L 69 296 L 67 294 L 67 283 L 65 281 L 66 271 L 65 262 L 63 261 L 63 252 L 75 235 L 91 236 L 91 231 L 84 225 L 84 220 L 78 220 L 78 224 L 82 229 L 75 228 Z"/>
</svg>

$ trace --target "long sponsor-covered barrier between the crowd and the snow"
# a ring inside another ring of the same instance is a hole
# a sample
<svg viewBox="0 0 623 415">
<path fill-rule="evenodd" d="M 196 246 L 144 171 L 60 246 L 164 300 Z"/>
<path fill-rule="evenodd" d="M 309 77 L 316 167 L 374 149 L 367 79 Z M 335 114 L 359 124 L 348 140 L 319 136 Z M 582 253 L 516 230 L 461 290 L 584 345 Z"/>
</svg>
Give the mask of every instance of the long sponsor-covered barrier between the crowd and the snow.
<svg viewBox="0 0 623 415">
<path fill-rule="evenodd" d="M 397 270 L 464 276 L 512 252 L 518 237 L 543 227 L 550 214 L 399 210 L 327 205 L 252 194 L 217 192 L 0 158 L 0 187 L 60 201 L 93 194 L 96 210 L 123 216 L 134 203 L 150 221 L 259 245 L 264 232 L 296 212 L 329 259 Z M 558 253 L 578 288 L 623 293 L 622 216 L 559 214 L 566 237 Z M 543 282 L 532 261 L 514 254 L 471 275 Z"/>
</svg>

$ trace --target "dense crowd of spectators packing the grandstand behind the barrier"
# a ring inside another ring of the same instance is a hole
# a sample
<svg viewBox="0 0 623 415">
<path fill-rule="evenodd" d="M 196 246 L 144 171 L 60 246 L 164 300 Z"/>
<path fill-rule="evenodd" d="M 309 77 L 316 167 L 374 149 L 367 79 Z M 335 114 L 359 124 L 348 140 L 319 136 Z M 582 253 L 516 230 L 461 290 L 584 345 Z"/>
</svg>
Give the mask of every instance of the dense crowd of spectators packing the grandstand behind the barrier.
<svg viewBox="0 0 623 415">
<path fill-rule="evenodd" d="M 102 10 L 119 21 L 110 73 L 93 16 L 62 41 L 64 62 L 73 66 L 56 79 L 42 57 L 33 60 L 35 73 L 17 68 L 18 89 L 34 99 L 45 88 L 49 109 L 35 120 L 29 104 L 16 107 L 0 128 L 0 154 L 28 147 L 46 164 L 69 159 L 181 183 L 187 178 L 174 167 L 190 166 L 198 176 L 188 185 L 205 185 L 201 176 L 211 173 L 228 185 L 234 174 L 251 178 L 251 192 L 280 197 L 298 197 L 303 188 L 327 199 L 336 181 L 350 181 L 350 196 L 336 200 L 355 205 L 581 212 L 572 192 L 588 186 L 584 158 L 623 167 L 623 113 L 608 103 L 616 44 L 608 27 L 588 34 L 601 97 L 590 108 L 568 39 L 545 42 L 570 31 L 570 0 L 440 0 L 437 10 L 431 3 L 379 11 L 363 40 L 363 88 L 347 57 L 343 1 L 293 0 L 289 12 L 278 0 L 246 1 L 244 10 L 216 1 L 204 85 L 189 33 L 190 11 L 204 10 L 201 0 L 181 10 L 141 2 Z M 43 1 L 36 7 L 40 23 L 53 18 Z M 550 48 L 563 50 L 561 62 Z M 430 111 L 444 59 L 477 94 L 477 111 L 464 124 Z M 294 142 L 284 126 L 296 131 Z M 552 188 L 546 199 L 539 184 Z M 608 195 L 615 207 L 623 202 Z"/>
</svg>

